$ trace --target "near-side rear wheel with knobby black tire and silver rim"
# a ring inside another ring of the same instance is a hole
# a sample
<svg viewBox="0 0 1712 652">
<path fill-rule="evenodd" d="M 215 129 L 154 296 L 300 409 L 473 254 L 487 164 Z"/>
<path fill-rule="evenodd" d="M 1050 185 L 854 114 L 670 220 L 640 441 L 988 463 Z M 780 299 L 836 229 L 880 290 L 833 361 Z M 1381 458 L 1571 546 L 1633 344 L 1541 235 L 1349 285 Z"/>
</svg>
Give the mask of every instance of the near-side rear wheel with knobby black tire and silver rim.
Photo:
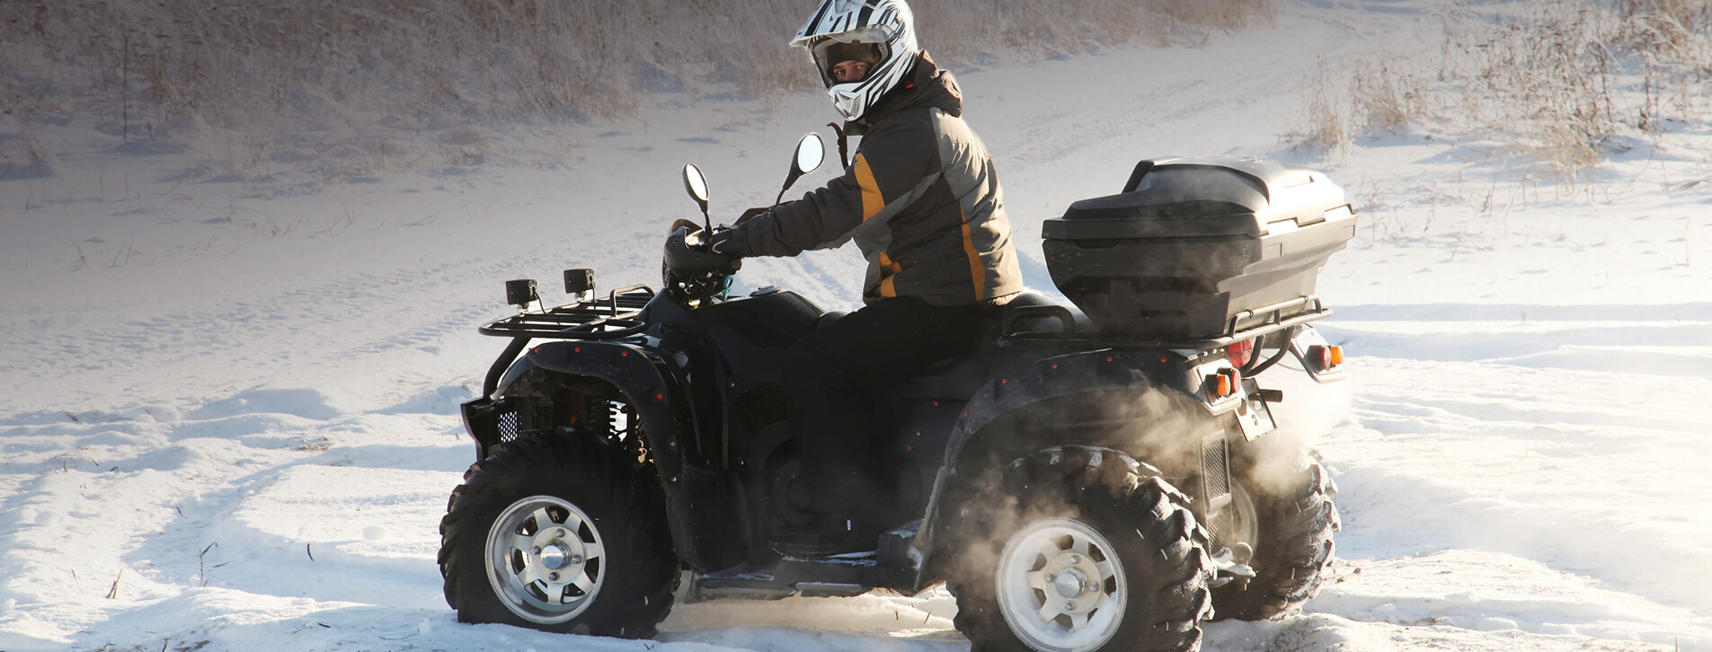
<svg viewBox="0 0 1712 652">
<path fill-rule="evenodd" d="M 1193 650 L 1210 616 L 1207 536 L 1188 496 L 1111 448 L 1012 462 L 954 553 L 974 649 Z"/>
</svg>

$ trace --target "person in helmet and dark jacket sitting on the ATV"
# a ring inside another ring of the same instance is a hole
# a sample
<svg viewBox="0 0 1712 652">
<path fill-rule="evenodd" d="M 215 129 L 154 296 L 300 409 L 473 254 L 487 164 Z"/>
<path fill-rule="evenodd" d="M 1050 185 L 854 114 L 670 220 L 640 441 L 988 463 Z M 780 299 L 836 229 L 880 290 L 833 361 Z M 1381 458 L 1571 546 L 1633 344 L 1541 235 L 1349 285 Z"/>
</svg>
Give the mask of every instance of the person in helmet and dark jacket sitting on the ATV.
<svg viewBox="0 0 1712 652">
<path fill-rule="evenodd" d="M 856 240 L 863 308 L 806 334 L 784 387 L 822 551 L 871 549 L 892 503 L 875 469 L 863 397 L 969 353 L 988 306 L 1022 291 L 1010 221 L 986 147 L 962 120 L 952 74 L 916 46 L 904 0 L 823 0 L 791 39 L 808 50 L 844 132 L 844 175 L 716 233 L 714 253 L 788 257 Z M 842 142 L 841 142 L 842 149 Z"/>
</svg>

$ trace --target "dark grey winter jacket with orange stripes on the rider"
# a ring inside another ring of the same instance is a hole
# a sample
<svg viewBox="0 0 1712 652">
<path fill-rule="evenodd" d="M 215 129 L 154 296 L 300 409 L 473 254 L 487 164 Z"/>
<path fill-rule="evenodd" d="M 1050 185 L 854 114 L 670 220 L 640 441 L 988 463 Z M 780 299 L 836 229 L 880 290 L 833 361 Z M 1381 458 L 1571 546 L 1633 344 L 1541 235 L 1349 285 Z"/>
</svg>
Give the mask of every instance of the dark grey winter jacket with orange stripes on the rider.
<svg viewBox="0 0 1712 652">
<path fill-rule="evenodd" d="M 752 253 L 796 255 L 853 238 L 868 258 L 865 301 L 950 306 L 1022 291 L 998 175 L 962 122 L 950 72 L 921 53 L 914 74 L 847 132 L 861 144 L 844 176 L 740 226 Z"/>
</svg>

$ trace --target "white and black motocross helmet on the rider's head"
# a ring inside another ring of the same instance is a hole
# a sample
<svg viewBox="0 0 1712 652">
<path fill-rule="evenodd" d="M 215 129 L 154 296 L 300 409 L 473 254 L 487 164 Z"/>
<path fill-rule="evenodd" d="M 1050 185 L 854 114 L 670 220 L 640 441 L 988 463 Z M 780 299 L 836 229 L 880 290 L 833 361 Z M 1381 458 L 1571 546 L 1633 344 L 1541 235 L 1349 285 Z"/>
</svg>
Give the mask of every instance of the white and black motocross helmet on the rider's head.
<svg viewBox="0 0 1712 652">
<path fill-rule="evenodd" d="M 909 74 L 921 51 L 914 22 L 904 0 L 822 0 L 791 44 L 808 50 L 820 80 L 827 84 L 832 108 L 846 120 L 858 120 Z M 859 82 L 841 84 L 832 75 L 832 65 L 839 62 L 829 50 L 839 43 L 873 44 L 877 58 Z"/>
</svg>

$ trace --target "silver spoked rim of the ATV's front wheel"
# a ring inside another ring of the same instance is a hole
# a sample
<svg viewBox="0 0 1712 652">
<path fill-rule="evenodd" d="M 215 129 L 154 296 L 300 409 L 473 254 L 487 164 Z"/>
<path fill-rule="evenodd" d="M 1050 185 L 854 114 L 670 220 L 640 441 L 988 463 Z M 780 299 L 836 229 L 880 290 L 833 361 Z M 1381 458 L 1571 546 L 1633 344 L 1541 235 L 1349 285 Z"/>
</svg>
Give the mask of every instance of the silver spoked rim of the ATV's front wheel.
<svg viewBox="0 0 1712 652">
<path fill-rule="evenodd" d="M 594 604 L 606 546 L 594 520 L 555 496 L 512 503 L 488 530 L 488 584 L 514 614 L 556 625 Z"/>
</svg>

